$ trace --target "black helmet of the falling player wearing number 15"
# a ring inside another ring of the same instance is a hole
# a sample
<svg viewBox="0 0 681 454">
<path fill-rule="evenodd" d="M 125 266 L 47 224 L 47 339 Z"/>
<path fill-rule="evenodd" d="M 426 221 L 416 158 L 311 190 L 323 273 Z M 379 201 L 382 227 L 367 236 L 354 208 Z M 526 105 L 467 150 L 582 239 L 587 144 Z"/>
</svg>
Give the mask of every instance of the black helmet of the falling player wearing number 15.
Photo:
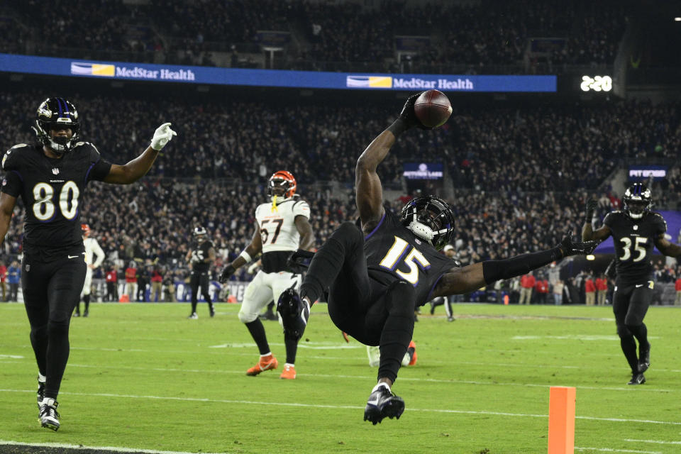
<svg viewBox="0 0 681 454">
<path fill-rule="evenodd" d="M 454 212 L 446 201 L 436 196 L 408 201 L 399 214 L 399 221 L 437 250 L 444 248 L 454 234 Z"/>
</svg>

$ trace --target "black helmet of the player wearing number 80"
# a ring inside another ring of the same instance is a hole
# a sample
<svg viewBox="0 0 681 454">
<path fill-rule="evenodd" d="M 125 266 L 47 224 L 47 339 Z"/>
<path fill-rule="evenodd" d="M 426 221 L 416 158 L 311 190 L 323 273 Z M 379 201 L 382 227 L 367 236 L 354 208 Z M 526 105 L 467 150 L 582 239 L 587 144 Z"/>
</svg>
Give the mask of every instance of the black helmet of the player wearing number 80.
<svg viewBox="0 0 681 454">
<path fill-rule="evenodd" d="M 50 136 L 50 130 L 70 128 L 71 138 Z M 43 101 L 35 113 L 35 133 L 43 145 L 48 145 L 55 153 L 61 155 L 71 149 L 71 143 L 77 142 L 80 121 L 76 107 L 64 98 L 48 98 Z"/>
</svg>

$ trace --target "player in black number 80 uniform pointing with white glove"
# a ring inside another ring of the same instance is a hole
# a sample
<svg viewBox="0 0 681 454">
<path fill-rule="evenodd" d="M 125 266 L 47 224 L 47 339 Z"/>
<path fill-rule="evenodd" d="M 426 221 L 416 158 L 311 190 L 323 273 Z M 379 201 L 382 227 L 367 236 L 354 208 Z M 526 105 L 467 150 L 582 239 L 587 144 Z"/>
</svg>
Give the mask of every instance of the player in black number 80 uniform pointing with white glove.
<svg viewBox="0 0 681 454">
<path fill-rule="evenodd" d="M 38 107 L 36 145 L 14 145 L 2 158 L 0 238 L 21 196 L 26 207 L 21 287 L 31 346 L 38 362 L 38 408 L 43 427 L 57 430 L 57 393 L 69 357 L 69 323 L 87 265 L 79 207 L 87 183 L 130 184 L 143 177 L 175 135 L 170 123 L 154 133 L 144 152 L 126 165 L 107 162 L 79 140 L 80 118 L 70 101 L 48 98 Z"/>
</svg>

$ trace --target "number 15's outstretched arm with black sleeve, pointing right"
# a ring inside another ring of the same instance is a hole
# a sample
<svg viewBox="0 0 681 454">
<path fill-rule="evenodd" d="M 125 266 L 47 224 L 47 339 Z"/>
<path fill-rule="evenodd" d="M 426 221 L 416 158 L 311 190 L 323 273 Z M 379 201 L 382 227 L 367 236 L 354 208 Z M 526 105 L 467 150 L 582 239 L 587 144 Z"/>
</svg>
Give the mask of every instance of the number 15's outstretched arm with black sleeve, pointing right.
<svg viewBox="0 0 681 454">
<path fill-rule="evenodd" d="M 597 244 L 596 241 L 576 243 L 572 240 L 572 233 L 569 233 L 559 245 L 552 249 L 516 255 L 505 260 L 489 260 L 463 268 L 453 268 L 440 279 L 433 291 L 433 297 L 448 297 L 453 294 L 473 292 L 499 279 L 526 275 L 531 270 L 546 266 L 568 255 L 589 254 Z"/>
</svg>

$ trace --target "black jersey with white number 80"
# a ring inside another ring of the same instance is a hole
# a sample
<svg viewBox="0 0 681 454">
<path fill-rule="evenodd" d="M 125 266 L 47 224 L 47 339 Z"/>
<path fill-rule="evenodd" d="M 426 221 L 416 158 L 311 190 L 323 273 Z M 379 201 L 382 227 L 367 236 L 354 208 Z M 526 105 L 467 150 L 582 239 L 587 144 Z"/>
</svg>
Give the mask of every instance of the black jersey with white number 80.
<svg viewBox="0 0 681 454">
<path fill-rule="evenodd" d="M 61 159 L 45 156 L 40 145 L 15 145 L 2 158 L 0 190 L 21 196 L 26 209 L 23 249 L 54 260 L 82 251 L 79 208 L 87 183 L 109 175 L 111 164 L 88 142 L 79 142 Z"/>
</svg>

